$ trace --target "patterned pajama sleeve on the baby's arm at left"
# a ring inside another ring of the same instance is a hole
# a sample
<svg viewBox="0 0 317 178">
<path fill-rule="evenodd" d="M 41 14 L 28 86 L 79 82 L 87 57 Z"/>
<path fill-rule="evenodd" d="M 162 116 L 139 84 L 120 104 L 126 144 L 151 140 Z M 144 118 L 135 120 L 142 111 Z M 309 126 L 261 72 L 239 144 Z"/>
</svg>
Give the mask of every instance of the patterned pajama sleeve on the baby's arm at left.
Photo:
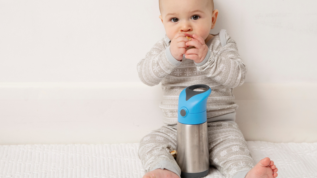
<svg viewBox="0 0 317 178">
<path fill-rule="evenodd" d="M 171 55 L 166 40 L 165 35 L 165 38 L 158 41 L 137 65 L 140 80 L 148 86 L 158 85 L 182 61 Z"/>
</svg>

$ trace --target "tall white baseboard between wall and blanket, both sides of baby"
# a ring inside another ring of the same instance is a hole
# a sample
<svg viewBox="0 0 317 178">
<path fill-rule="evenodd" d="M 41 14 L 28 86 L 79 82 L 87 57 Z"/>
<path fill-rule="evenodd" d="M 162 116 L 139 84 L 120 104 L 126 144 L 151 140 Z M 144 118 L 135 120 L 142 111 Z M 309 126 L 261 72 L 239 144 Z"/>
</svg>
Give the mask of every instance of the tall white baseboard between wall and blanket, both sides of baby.
<svg viewBox="0 0 317 178">
<path fill-rule="evenodd" d="M 234 89 L 246 140 L 317 142 L 317 84 Z M 163 125 L 161 86 L 0 82 L 0 144 L 136 143 Z"/>
</svg>

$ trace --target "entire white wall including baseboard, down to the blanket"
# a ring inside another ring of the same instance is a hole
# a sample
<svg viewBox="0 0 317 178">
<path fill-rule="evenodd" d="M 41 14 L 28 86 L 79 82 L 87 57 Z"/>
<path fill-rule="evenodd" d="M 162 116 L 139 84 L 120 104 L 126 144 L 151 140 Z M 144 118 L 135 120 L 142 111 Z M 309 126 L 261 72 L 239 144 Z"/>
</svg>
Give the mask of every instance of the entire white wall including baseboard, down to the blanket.
<svg viewBox="0 0 317 178">
<path fill-rule="evenodd" d="M 247 140 L 317 141 L 315 7 L 215 0 L 212 32 L 227 29 L 248 66 L 235 90 Z M 0 0 L 0 144 L 137 142 L 161 125 L 160 86 L 136 70 L 165 34 L 158 16 L 158 1 Z"/>
</svg>

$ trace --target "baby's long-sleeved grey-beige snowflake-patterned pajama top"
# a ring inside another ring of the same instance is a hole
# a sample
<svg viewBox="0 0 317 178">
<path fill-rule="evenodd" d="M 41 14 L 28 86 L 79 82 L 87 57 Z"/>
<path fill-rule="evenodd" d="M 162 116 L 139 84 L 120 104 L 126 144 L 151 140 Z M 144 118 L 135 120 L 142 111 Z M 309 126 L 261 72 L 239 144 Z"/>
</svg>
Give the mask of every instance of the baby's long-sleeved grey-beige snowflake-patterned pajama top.
<svg viewBox="0 0 317 178">
<path fill-rule="evenodd" d="M 177 124 L 178 96 L 184 88 L 195 84 L 205 84 L 211 89 L 207 118 L 228 114 L 238 108 L 233 88 L 243 84 L 247 66 L 238 54 L 236 42 L 222 29 L 206 45 L 209 51 L 202 62 L 184 57 L 178 61 L 171 55 L 170 39 L 165 35 L 139 61 L 137 70 L 144 84 L 154 86 L 161 82 L 163 101 L 159 107 L 165 124 Z"/>
</svg>

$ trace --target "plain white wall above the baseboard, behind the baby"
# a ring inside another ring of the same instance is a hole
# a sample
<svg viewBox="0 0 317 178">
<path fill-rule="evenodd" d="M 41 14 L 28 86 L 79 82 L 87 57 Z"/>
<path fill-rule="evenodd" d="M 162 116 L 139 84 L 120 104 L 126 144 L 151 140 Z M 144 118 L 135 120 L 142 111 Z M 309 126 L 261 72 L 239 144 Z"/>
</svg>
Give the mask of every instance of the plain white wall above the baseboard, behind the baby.
<svg viewBox="0 0 317 178">
<path fill-rule="evenodd" d="M 163 37 L 158 0 L 0 1 L 0 82 L 138 82 Z M 215 0 L 246 82 L 317 82 L 317 1 Z"/>
</svg>

